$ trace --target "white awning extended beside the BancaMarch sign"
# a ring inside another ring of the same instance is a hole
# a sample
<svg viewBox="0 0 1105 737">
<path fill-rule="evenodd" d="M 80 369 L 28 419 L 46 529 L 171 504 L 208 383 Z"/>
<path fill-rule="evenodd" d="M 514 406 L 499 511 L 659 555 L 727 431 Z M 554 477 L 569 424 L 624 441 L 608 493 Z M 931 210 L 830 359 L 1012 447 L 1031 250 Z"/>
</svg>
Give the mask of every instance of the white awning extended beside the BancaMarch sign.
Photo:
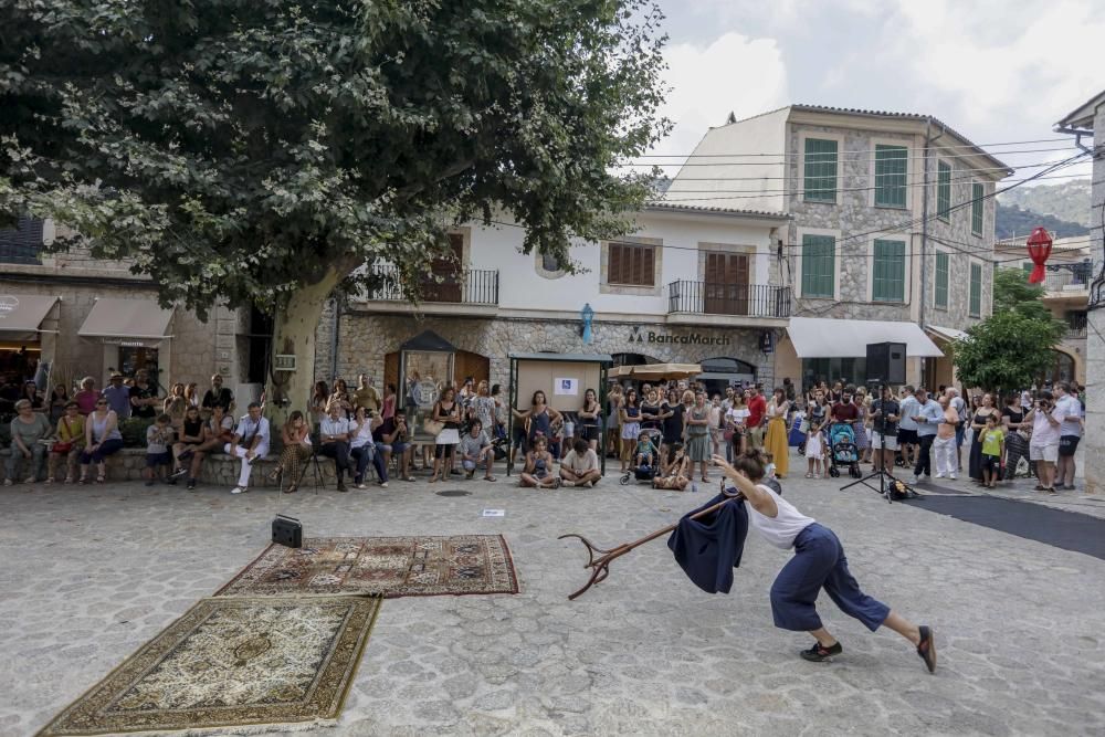
<svg viewBox="0 0 1105 737">
<path fill-rule="evenodd" d="M 869 343 L 904 343 L 909 358 L 944 356 L 915 323 L 791 317 L 787 334 L 799 358 L 859 358 Z"/>
</svg>

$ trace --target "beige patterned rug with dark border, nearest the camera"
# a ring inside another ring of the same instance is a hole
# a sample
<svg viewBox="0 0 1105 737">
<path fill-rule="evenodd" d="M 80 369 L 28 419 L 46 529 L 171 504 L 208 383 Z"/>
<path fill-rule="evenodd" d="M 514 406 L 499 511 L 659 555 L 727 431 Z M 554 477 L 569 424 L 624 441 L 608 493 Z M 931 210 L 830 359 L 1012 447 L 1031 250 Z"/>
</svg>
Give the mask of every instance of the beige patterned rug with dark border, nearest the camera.
<svg viewBox="0 0 1105 737">
<path fill-rule="evenodd" d="M 334 723 L 380 599 L 203 599 L 39 737 L 252 733 Z"/>
</svg>

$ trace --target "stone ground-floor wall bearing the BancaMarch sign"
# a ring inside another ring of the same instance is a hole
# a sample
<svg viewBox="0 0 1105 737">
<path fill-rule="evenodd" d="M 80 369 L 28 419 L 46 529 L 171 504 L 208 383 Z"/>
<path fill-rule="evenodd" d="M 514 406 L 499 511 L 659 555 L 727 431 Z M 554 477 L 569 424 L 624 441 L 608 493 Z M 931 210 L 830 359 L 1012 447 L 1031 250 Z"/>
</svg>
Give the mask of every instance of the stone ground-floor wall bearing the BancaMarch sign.
<svg viewBox="0 0 1105 737">
<path fill-rule="evenodd" d="M 324 315 L 319 324 L 316 377 L 329 380 L 329 339 L 323 339 L 329 324 Z M 381 315 L 377 313 L 343 313 L 338 346 L 338 376 L 351 380 L 360 372 L 383 378 L 383 360 L 389 352 L 423 330 L 433 330 L 460 350 L 486 356 L 491 364 L 492 383 L 507 383 L 511 352 L 554 354 L 643 354 L 660 362 L 698 362 L 707 358 L 729 357 L 756 367 L 757 378 L 772 386 L 774 356 L 759 349 L 761 330 L 728 327 L 671 327 L 645 323 L 596 320 L 593 340 L 583 345 L 578 322 L 557 322 L 481 317 L 424 317 Z M 649 334 L 672 336 L 673 343 L 649 341 Z M 692 336 L 723 338 L 728 345 L 683 343 Z"/>
</svg>

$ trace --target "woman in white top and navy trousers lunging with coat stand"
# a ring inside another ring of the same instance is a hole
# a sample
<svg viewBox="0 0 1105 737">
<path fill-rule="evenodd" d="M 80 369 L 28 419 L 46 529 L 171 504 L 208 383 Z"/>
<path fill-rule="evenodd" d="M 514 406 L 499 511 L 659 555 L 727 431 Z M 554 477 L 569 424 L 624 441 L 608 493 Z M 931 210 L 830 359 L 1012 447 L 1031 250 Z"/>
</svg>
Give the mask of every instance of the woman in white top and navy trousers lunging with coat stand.
<svg viewBox="0 0 1105 737">
<path fill-rule="evenodd" d="M 749 525 L 775 547 L 794 549 L 794 557 L 783 566 L 771 585 L 771 613 L 776 627 L 809 632 L 817 640 L 812 647 L 801 651 L 803 659 L 822 662 L 844 651 L 824 629 L 814 607 L 818 592 L 823 588 L 841 611 L 863 622 L 872 632 L 887 627 L 912 642 L 929 673 L 936 671 L 936 643 L 932 628 L 913 624 L 860 590 L 848 570 L 844 548 L 833 531 L 807 517 L 760 483 L 764 461 L 759 453 L 738 455 L 732 465 L 724 456 L 715 455 L 714 465 L 734 483 L 748 503 Z"/>
</svg>

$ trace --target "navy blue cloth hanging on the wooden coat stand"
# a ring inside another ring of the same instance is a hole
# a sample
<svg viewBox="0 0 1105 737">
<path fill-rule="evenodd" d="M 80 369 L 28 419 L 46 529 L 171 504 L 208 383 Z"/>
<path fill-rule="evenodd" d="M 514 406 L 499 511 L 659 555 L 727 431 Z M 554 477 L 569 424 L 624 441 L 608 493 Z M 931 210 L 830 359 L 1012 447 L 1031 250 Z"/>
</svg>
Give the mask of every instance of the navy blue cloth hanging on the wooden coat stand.
<svg viewBox="0 0 1105 737">
<path fill-rule="evenodd" d="M 740 566 L 748 535 L 748 510 L 744 499 L 729 498 L 728 504 L 712 515 L 701 519 L 691 517 L 726 498 L 729 497 L 718 494 L 688 512 L 667 538 L 675 562 L 695 586 L 707 593 L 728 593 L 733 587 L 733 569 Z"/>
</svg>

